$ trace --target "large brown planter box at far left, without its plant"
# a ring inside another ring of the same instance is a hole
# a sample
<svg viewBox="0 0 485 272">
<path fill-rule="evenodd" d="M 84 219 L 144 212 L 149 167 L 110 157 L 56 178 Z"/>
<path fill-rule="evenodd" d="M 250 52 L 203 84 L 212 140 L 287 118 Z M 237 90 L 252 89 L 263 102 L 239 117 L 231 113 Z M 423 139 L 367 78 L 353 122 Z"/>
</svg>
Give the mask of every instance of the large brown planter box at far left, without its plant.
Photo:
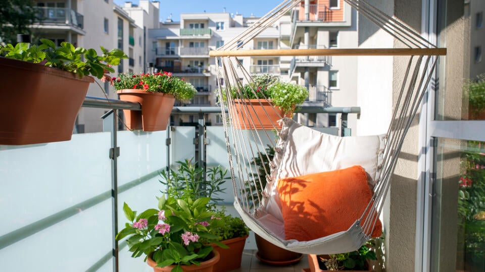
<svg viewBox="0 0 485 272">
<path fill-rule="evenodd" d="M 91 77 L 0 57 L 0 145 L 71 140 Z"/>
</svg>

